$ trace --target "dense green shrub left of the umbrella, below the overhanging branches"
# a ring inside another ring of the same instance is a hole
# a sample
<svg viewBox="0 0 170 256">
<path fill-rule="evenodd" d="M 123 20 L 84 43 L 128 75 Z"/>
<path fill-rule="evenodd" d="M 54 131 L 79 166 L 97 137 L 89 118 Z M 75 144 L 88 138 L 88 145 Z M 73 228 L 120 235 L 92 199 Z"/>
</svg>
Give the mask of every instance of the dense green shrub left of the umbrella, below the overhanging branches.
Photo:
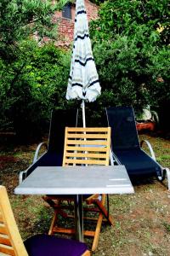
<svg viewBox="0 0 170 256">
<path fill-rule="evenodd" d="M 1 130 L 14 129 L 22 140 L 41 136 L 51 109 L 65 108 L 70 68 L 69 53 L 54 44 L 24 42 L 23 49 L 12 65 L 0 62 Z"/>
</svg>

